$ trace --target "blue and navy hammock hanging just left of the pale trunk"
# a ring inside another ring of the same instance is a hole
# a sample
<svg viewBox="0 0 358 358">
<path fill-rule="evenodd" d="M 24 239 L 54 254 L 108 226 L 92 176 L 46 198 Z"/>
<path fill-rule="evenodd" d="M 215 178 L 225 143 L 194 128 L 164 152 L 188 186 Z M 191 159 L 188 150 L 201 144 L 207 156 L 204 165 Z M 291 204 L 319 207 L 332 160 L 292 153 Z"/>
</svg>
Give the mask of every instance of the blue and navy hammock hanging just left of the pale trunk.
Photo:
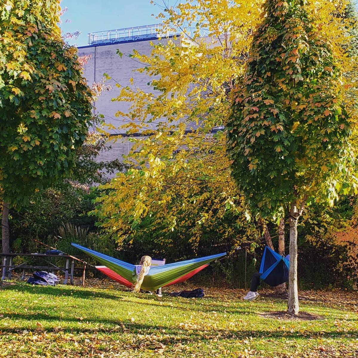
<svg viewBox="0 0 358 358">
<path fill-rule="evenodd" d="M 290 255 L 286 257 L 266 246 L 263 251 L 260 280 L 270 286 L 278 286 L 289 280 Z"/>
</svg>

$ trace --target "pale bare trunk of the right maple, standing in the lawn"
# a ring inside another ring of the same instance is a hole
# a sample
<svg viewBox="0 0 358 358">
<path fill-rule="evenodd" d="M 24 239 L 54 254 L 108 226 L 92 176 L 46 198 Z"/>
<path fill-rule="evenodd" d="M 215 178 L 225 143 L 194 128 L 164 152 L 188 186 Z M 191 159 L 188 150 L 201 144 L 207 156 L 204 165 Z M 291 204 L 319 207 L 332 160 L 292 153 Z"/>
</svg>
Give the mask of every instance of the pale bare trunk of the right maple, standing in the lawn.
<svg viewBox="0 0 358 358">
<path fill-rule="evenodd" d="M 292 206 L 291 206 L 292 207 Z M 296 205 L 294 205 L 296 209 Z M 293 214 L 296 214 L 293 216 Z M 297 288 L 297 221 L 299 214 L 296 210 L 290 212 L 290 272 L 289 272 L 289 300 L 287 312 L 296 315 L 299 312 Z"/>
</svg>

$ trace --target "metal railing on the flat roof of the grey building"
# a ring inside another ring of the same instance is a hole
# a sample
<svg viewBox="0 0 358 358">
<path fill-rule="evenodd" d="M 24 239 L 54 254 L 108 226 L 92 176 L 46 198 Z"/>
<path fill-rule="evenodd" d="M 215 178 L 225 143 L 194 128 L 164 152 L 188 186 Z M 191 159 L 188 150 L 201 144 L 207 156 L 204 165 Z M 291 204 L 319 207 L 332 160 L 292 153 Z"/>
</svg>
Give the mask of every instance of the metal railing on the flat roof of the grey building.
<svg viewBox="0 0 358 358">
<path fill-rule="evenodd" d="M 160 33 L 160 25 L 144 25 L 127 27 L 124 29 L 91 32 L 88 34 L 88 45 L 112 44 L 118 42 L 133 42 L 137 40 L 151 40 L 174 33 Z"/>
</svg>

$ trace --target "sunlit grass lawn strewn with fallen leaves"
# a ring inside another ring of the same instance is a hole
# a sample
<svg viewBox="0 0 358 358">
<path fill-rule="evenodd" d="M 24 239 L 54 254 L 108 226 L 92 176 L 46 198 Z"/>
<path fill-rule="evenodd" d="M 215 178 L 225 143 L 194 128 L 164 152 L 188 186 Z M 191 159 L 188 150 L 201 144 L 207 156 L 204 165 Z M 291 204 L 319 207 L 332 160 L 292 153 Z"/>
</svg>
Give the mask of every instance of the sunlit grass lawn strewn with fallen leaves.
<svg viewBox="0 0 358 358">
<path fill-rule="evenodd" d="M 292 320 L 269 291 L 248 303 L 243 290 L 158 298 L 91 284 L 0 289 L 0 357 L 358 357 L 357 292 L 300 292 L 307 314 Z"/>
</svg>

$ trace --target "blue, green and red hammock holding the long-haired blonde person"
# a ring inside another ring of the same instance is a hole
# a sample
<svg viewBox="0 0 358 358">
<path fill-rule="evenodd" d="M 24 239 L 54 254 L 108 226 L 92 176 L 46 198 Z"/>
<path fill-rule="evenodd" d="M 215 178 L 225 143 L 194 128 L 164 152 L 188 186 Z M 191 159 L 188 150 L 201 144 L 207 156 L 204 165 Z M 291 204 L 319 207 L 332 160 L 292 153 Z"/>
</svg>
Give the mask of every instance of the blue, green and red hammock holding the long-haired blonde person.
<svg viewBox="0 0 358 358">
<path fill-rule="evenodd" d="M 120 282 L 131 287 L 137 280 L 135 265 L 118 260 L 103 253 L 90 250 L 87 247 L 72 243 L 72 246 L 86 252 L 104 266 L 96 266 L 98 270 Z M 217 255 L 193 258 L 192 260 L 169 263 L 168 265 L 151 267 L 148 274 L 144 277 L 141 288 L 146 291 L 154 291 L 159 287 L 174 285 L 183 282 L 194 276 L 197 272 L 204 269 L 212 261 L 226 255 L 226 252 Z"/>
</svg>

